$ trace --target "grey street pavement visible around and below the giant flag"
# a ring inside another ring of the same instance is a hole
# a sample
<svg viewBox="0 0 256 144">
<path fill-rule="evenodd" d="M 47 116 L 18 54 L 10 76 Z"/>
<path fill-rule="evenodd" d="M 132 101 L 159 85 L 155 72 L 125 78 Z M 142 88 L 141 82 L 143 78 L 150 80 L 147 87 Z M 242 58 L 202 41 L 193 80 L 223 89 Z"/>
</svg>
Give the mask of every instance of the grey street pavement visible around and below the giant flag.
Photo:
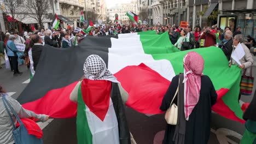
<svg viewBox="0 0 256 144">
<path fill-rule="evenodd" d="M 254 57 L 256 61 L 256 57 Z M 4 67 L 4 65 L 2 65 Z M 9 95 L 18 98 L 29 82 L 30 70 L 25 65 L 19 67 L 23 72 L 21 76 L 13 77 L 13 73 L 7 69 L 0 69 L 0 84 L 7 89 Z M 253 67 L 253 76 L 256 74 L 256 64 Z M 254 83 L 256 85 L 256 83 Z M 255 89 L 255 87 L 254 87 Z M 36 91 L 36 89 L 35 89 Z M 254 92 L 254 91 L 253 91 Z M 245 103 L 251 101 L 252 97 L 242 96 L 241 100 Z M 243 103 L 242 102 L 242 103 Z M 138 144 L 160 144 L 164 136 L 166 122 L 164 115 L 146 116 L 135 110 L 126 107 L 126 117 L 130 131 Z M 40 123 L 43 128 L 43 140 L 46 144 L 51 143 L 77 143 L 75 118 L 51 119 L 49 122 Z M 209 144 L 214 143 L 238 143 L 241 139 L 244 125 L 230 121 L 216 113 L 212 113 L 211 137 Z M 229 135 L 229 136 L 225 136 Z"/>
</svg>

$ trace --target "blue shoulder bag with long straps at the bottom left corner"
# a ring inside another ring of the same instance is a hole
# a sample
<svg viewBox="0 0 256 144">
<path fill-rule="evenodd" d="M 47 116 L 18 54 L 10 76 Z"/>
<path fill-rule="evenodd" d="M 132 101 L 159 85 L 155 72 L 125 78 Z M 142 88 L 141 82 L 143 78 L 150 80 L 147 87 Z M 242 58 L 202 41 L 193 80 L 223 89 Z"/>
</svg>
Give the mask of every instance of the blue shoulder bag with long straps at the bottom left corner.
<svg viewBox="0 0 256 144">
<path fill-rule="evenodd" d="M 18 114 L 14 111 L 13 107 L 11 107 L 11 105 L 9 104 L 9 102 L 5 97 L 6 96 L 4 95 L 2 97 L 2 100 L 4 103 L 4 107 L 7 110 L 8 115 L 10 117 L 11 124 L 13 125 L 13 137 L 14 137 L 15 144 L 43 144 L 42 139 L 37 139 L 36 136 L 28 134 L 27 128 L 21 122 Z M 10 115 L 8 107 L 14 113 L 14 116 L 16 117 L 17 121 L 20 123 L 20 127 L 18 128 L 15 127 L 13 118 Z"/>
</svg>

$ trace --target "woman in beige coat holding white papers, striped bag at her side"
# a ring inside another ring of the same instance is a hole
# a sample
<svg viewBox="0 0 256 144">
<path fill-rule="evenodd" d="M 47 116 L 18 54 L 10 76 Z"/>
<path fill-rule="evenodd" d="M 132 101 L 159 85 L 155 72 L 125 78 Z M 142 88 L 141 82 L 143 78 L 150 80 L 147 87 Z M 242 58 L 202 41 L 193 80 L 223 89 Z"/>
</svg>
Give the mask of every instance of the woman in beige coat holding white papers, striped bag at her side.
<svg viewBox="0 0 256 144">
<path fill-rule="evenodd" d="M 228 31 L 227 31 L 228 32 Z M 229 61 L 229 67 L 231 65 L 237 65 L 239 68 L 241 68 L 241 75 L 245 73 L 245 75 L 250 76 L 251 75 L 251 68 L 254 63 L 252 55 L 248 47 L 243 43 L 245 41 L 245 38 L 242 34 L 235 35 L 233 39 L 233 49 L 232 52 L 236 49 L 238 44 L 241 44 L 243 47 L 243 50 L 245 51 L 245 56 L 243 56 L 239 61 L 242 65 L 239 65 L 232 57 Z M 241 95 L 239 95 L 238 100 L 240 99 Z"/>
</svg>

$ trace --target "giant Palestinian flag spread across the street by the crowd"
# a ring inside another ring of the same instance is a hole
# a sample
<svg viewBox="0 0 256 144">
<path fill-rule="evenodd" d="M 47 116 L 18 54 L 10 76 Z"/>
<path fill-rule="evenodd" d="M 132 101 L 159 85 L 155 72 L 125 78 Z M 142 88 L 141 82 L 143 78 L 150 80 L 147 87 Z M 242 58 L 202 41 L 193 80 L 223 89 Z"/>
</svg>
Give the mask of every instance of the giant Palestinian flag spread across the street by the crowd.
<svg viewBox="0 0 256 144">
<path fill-rule="evenodd" d="M 196 51 L 205 59 L 203 74 L 211 78 L 218 93 L 212 110 L 243 123 L 237 102 L 240 69 L 229 68 L 223 51 L 217 47 L 189 51 Z M 161 100 L 172 77 L 183 73 L 183 57 L 189 51 L 177 50 L 168 33 L 157 35 L 155 31 L 119 34 L 118 38 L 86 37 L 75 49 L 54 49 L 47 45 L 33 80 L 18 101 L 36 113 L 54 118 L 74 117 L 77 105 L 69 100 L 69 94 L 83 76 L 86 57 L 96 54 L 129 93 L 127 106 L 141 113 L 163 113 L 159 110 Z"/>
</svg>

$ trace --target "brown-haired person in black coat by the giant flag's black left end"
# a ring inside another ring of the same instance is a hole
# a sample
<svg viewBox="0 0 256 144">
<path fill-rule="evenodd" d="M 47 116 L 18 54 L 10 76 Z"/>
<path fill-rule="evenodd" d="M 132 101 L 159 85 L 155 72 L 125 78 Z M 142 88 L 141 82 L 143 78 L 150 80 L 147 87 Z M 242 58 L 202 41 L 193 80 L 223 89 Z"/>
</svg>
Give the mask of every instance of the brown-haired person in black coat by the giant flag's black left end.
<svg viewBox="0 0 256 144">
<path fill-rule="evenodd" d="M 43 50 L 43 41 L 38 34 L 32 35 L 30 47 L 32 47 L 33 68 L 36 71 Z"/>
</svg>

